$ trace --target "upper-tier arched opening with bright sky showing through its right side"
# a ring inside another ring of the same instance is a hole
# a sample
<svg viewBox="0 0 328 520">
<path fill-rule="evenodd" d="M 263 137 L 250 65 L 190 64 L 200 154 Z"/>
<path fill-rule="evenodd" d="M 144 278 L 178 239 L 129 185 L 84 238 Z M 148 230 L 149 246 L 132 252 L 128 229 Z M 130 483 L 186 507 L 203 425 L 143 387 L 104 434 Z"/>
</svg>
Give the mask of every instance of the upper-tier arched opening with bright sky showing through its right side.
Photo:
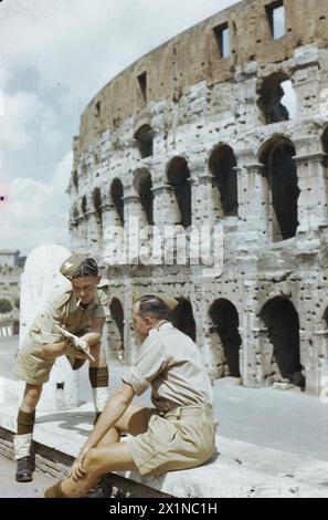
<svg viewBox="0 0 328 520">
<path fill-rule="evenodd" d="M 289 75 L 285 72 L 275 72 L 263 80 L 258 94 L 257 105 L 267 125 L 295 117 L 296 93 Z"/>
</svg>

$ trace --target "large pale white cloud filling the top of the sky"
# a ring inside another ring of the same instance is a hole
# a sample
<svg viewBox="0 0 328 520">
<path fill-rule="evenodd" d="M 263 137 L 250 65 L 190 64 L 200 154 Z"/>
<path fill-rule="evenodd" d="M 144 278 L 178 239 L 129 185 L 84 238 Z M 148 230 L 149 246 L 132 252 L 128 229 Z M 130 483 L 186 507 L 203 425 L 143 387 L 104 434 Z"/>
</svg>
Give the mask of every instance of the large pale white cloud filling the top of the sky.
<svg viewBox="0 0 328 520">
<path fill-rule="evenodd" d="M 24 0 L 6 2 L 0 46 L 17 69 L 83 107 L 146 52 L 236 0 Z"/>
</svg>

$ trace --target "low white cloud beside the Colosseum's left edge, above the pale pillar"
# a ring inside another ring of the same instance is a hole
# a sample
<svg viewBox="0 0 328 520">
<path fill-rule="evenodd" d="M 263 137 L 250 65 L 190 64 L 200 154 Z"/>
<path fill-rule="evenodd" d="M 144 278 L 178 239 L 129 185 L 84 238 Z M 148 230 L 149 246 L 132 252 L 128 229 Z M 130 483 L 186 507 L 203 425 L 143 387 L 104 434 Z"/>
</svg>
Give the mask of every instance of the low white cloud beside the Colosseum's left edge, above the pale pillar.
<svg viewBox="0 0 328 520">
<path fill-rule="evenodd" d="M 49 184 L 32 178 L 10 183 L 11 199 L 1 211 L 1 248 L 30 252 L 43 243 L 68 243 L 68 197 L 65 189 L 72 169 L 67 153 Z"/>
</svg>

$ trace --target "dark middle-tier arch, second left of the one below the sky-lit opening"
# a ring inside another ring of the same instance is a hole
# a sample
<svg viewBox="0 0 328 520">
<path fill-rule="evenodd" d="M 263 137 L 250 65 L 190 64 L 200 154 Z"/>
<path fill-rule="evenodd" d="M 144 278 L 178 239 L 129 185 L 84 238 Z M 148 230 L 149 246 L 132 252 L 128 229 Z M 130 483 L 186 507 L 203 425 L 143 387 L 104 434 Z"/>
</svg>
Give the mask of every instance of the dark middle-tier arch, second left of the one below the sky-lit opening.
<svg viewBox="0 0 328 520">
<path fill-rule="evenodd" d="M 191 185 L 188 163 L 183 157 L 174 157 L 168 167 L 168 183 L 172 186 L 181 214 L 179 222 L 183 228 L 191 226 Z"/>
</svg>

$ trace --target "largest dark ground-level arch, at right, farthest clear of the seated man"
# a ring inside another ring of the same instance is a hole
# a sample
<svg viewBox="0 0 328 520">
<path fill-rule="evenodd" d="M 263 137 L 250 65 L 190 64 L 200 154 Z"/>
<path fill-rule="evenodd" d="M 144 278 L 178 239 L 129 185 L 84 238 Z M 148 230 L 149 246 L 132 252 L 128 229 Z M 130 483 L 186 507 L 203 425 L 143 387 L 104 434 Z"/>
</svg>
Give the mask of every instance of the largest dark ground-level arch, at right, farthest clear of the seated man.
<svg viewBox="0 0 328 520">
<path fill-rule="evenodd" d="M 284 378 L 305 387 L 303 366 L 299 361 L 299 319 L 295 306 L 284 297 L 276 297 L 262 308 L 263 320 L 273 355 Z"/>
</svg>

